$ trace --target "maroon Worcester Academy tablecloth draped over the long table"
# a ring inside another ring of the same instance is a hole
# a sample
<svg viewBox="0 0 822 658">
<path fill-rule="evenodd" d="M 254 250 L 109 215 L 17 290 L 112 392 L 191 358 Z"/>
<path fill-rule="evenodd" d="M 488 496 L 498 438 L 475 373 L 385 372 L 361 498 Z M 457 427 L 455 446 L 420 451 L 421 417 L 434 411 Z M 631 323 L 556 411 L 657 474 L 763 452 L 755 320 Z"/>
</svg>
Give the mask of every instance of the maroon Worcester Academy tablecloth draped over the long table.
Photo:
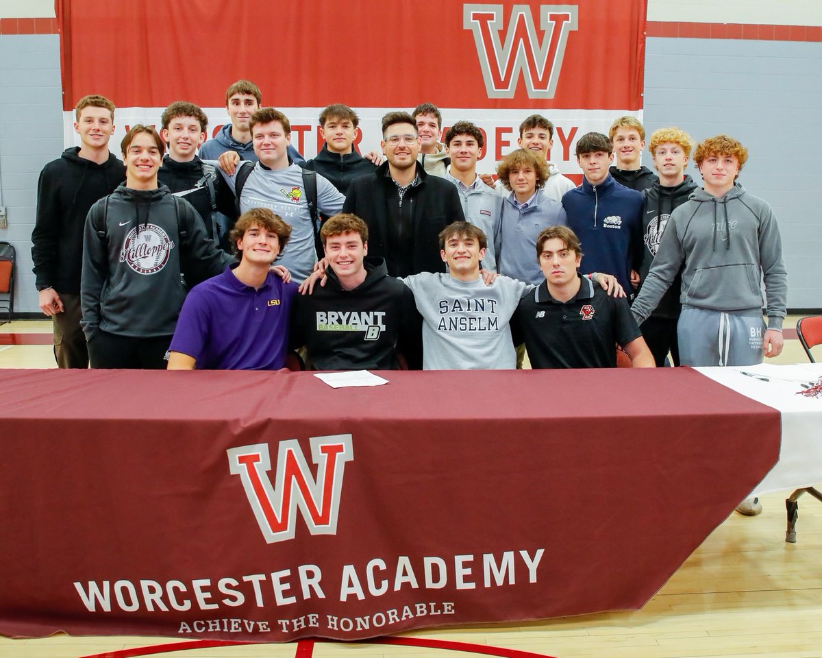
<svg viewBox="0 0 822 658">
<path fill-rule="evenodd" d="M 0 633 L 639 609 L 778 459 L 777 411 L 686 368 L 382 374 L 0 371 Z"/>
</svg>

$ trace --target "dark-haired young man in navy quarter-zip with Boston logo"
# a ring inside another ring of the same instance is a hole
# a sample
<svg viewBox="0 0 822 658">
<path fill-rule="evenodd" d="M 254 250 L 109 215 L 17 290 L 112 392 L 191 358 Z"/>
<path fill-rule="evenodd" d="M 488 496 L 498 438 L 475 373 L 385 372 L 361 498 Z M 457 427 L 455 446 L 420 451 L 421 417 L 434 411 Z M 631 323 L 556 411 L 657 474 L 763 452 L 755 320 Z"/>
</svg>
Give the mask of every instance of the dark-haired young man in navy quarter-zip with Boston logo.
<svg viewBox="0 0 822 658">
<path fill-rule="evenodd" d="M 642 264 L 643 199 L 608 173 L 613 157 L 611 140 L 602 133 L 580 137 L 576 161 L 584 179 L 579 188 L 565 193 L 562 206 L 568 227 L 585 245 L 580 270 L 613 274 L 630 295 L 631 283 L 639 283 Z"/>
</svg>

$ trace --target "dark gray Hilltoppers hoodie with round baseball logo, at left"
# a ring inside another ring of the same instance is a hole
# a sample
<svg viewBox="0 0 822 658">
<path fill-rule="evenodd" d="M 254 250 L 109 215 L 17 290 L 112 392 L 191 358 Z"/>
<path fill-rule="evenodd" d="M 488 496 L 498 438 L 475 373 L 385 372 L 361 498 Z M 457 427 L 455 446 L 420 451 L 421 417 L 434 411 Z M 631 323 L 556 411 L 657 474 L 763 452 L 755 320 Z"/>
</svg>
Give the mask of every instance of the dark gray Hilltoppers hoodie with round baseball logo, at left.
<svg viewBox="0 0 822 658">
<path fill-rule="evenodd" d="M 83 243 L 81 327 L 117 336 L 171 336 L 194 286 L 217 276 L 233 257 L 205 235 L 191 204 L 165 185 L 121 185 L 89 211 Z"/>
</svg>

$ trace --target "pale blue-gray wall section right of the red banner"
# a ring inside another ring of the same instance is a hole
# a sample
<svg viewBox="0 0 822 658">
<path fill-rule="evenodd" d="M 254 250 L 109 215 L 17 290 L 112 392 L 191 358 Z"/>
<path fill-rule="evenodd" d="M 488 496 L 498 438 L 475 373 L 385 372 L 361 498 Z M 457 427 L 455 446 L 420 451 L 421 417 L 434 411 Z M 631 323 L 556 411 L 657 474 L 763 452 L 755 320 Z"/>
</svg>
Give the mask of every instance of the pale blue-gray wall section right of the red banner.
<svg viewBox="0 0 822 658">
<path fill-rule="evenodd" d="M 750 151 L 739 176 L 774 207 L 788 308 L 822 309 L 822 44 L 647 39 L 644 126 L 679 126 L 695 141 L 725 132 Z M 651 166 L 648 155 L 645 164 Z M 700 173 L 688 173 L 701 183 Z"/>
</svg>

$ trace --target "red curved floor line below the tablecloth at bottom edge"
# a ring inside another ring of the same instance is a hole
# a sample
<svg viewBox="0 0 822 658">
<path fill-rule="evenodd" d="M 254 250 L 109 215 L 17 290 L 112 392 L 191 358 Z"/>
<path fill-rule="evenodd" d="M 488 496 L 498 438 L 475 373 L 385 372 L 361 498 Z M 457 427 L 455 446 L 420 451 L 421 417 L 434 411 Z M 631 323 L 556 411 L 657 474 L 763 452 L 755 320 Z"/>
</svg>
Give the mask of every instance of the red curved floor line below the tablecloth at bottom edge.
<svg viewBox="0 0 822 658">
<path fill-rule="evenodd" d="M 294 653 L 294 658 L 312 658 L 315 642 L 332 643 L 335 642 L 335 640 L 323 640 L 319 638 L 316 640 L 300 640 L 297 642 L 297 649 Z M 241 646 L 245 644 L 256 644 L 256 642 L 192 640 L 192 642 L 173 642 L 171 644 L 141 646 L 134 649 L 105 651 L 104 653 L 95 653 L 93 656 L 81 656 L 81 658 L 134 658 L 134 656 L 156 656 L 160 653 L 205 649 L 214 646 Z M 340 644 L 349 644 L 349 642 L 340 642 Z M 465 651 L 466 653 L 478 653 L 486 656 L 500 656 L 500 658 L 555 658 L 555 656 L 547 656 L 547 654 L 533 653 L 531 651 L 519 651 L 518 649 L 507 649 L 501 646 L 470 644 L 469 642 L 450 642 L 446 640 L 429 640 L 424 637 L 373 637 L 370 640 L 355 642 L 355 644 L 395 644 L 398 646 L 418 646 L 424 649 Z"/>
</svg>

